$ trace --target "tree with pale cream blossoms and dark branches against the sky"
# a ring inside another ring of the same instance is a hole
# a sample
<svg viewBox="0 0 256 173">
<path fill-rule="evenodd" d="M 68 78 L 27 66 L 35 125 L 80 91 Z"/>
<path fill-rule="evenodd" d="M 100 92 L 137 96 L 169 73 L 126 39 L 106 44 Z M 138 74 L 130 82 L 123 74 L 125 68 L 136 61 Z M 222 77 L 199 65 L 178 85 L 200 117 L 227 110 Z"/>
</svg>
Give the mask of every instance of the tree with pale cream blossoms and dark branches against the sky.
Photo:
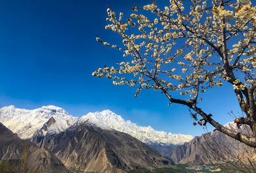
<svg viewBox="0 0 256 173">
<path fill-rule="evenodd" d="M 106 29 L 120 34 L 123 45 L 96 38 L 124 52 L 127 61 L 117 63 L 116 68 L 99 68 L 92 75 L 107 77 L 116 86 L 137 86 L 135 96 L 142 89 L 161 91 L 170 104 L 188 107 L 198 124 L 210 123 L 216 130 L 256 147 L 256 7 L 252 2 L 170 0 L 161 10 L 154 1 L 143 7 L 134 4 L 132 10 L 126 20 L 122 12 L 116 19 L 115 11 L 107 10 L 110 24 Z M 200 93 L 221 87 L 223 82 L 233 86 L 230 89 L 246 114 L 236 123 L 248 124 L 253 132 L 250 137 L 225 128 L 198 107 Z M 173 98 L 174 92 L 181 96 Z"/>
</svg>

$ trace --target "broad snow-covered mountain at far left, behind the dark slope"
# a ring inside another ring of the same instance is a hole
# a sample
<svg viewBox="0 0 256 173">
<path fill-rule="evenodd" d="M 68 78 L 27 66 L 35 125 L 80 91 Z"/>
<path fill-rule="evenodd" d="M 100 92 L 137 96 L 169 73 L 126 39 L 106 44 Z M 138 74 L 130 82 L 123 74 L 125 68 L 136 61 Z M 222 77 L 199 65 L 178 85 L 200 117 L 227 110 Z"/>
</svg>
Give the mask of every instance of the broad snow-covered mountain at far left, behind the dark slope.
<svg viewBox="0 0 256 173">
<path fill-rule="evenodd" d="M 0 109 L 0 122 L 13 133 L 17 133 L 21 139 L 31 138 L 51 117 L 54 117 L 56 122 L 47 129 L 48 133 L 63 132 L 78 119 L 64 109 L 52 105 L 33 110 L 18 109 L 13 105 Z"/>
</svg>

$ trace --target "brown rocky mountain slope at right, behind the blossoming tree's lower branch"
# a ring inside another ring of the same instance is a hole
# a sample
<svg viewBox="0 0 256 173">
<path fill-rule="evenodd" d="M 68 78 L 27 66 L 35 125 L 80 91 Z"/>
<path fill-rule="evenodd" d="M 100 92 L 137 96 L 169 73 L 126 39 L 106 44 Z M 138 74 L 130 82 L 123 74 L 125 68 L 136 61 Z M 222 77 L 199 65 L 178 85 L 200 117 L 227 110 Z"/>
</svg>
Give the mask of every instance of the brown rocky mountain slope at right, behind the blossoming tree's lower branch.
<svg viewBox="0 0 256 173">
<path fill-rule="evenodd" d="M 250 133 L 250 129 L 244 125 L 237 128 L 235 123 L 227 123 L 225 126 L 237 132 Z M 175 163 L 211 163 L 222 162 L 223 158 L 234 160 L 238 154 L 241 158 L 243 156 L 247 158 L 250 154 L 255 155 L 255 151 L 252 147 L 248 147 L 216 130 L 177 146 L 168 157 Z"/>
</svg>

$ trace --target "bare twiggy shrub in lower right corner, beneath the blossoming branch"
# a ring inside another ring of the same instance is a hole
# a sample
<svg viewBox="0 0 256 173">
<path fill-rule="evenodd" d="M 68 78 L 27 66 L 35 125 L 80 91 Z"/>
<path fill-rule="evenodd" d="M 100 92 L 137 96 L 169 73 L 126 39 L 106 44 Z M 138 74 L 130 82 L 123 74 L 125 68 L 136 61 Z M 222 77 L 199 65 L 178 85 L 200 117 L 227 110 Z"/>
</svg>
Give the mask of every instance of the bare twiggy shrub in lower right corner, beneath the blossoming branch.
<svg viewBox="0 0 256 173">
<path fill-rule="evenodd" d="M 247 125 L 243 125 L 237 131 L 246 135 L 252 133 Z M 222 134 L 218 133 L 205 133 L 198 145 L 202 152 L 207 153 L 209 163 L 224 172 L 256 172 L 256 148 L 246 146 L 238 140 L 228 139 L 229 137 L 221 137 Z"/>
</svg>

